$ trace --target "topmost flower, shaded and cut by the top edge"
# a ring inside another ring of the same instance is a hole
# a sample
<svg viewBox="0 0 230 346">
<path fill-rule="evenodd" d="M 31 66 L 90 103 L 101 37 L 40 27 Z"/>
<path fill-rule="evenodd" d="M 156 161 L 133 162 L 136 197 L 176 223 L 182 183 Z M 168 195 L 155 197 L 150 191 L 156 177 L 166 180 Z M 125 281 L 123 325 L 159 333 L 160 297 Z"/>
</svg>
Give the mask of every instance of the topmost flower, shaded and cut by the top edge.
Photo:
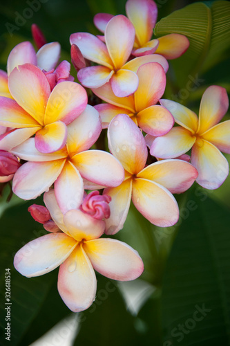
<svg viewBox="0 0 230 346">
<path fill-rule="evenodd" d="M 189 48 L 189 39 L 180 34 L 169 34 L 151 39 L 157 21 L 157 5 L 152 0 L 128 0 L 126 14 L 135 28 L 135 42 L 132 54 L 136 57 L 157 53 L 166 59 L 180 57 Z M 95 26 L 104 33 L 113 15 L 98 13 L 94 17 Z M 103 40 L 103 37 L 99 37 Z"/>
</svg>

